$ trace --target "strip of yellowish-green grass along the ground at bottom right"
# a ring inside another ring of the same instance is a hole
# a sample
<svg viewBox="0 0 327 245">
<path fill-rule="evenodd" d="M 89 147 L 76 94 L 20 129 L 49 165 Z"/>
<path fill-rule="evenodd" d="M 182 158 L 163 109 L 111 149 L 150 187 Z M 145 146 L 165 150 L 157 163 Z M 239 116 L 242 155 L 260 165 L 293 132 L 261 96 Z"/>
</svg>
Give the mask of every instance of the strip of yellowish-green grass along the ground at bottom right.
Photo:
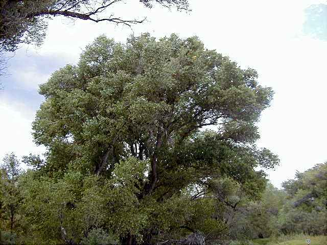
<svg viewBox="0 0 327 245">
<path fill-rule="evenodd" d="M 327 245 L 327 236 L 292 235 L 279 236 L 274 238 L 254 239 L 254 245 L 307 245 L 307 239 L 311 240 L 310 245 Z"/>
</svg>

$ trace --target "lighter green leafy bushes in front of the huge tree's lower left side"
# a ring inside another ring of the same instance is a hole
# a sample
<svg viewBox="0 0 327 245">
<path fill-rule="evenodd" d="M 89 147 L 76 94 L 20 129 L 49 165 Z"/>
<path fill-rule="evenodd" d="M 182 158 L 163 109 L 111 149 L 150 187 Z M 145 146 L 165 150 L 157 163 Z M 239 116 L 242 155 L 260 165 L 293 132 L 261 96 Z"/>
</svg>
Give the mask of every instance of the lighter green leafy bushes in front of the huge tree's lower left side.
<svg viewBox="0 0 327 245">
<path fill-rule="evenodd" d="M 121 162 L 111 180 L 69 171 L 55 181 L 28 171 L 22 182 L 30 231 L 48 242 L 59 242 L 63 236 L 66 242 L 78 243 L 83 234 L 84 242 L 112 241 L 126 233 L 139 236 L 146 217 L 134 190 L 146 163 L 140 162 L 136 167 L 137 164 L 135 159 Z M 105 235 L 97 227 L 106 228 L 115 236 Z"/>
</svg>

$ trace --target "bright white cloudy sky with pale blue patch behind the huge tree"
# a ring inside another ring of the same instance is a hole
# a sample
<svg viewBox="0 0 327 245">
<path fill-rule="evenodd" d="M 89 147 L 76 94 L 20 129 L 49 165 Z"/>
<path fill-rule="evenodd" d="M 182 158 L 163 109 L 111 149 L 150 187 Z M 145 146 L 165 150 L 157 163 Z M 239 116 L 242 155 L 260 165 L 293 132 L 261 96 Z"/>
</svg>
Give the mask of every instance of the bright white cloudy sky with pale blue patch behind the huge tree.
<svg viewBox="0 0 327 245">
<path fill-rule="evenodd" d="M 260 85 L 273 88 L 273 102 L 258 123 L 258 145 L 281 159 L 275 170 L 268 171 L 276 187 L 293 179 L 296 170 L 327 161 L 327 37 L 318 39 L 302 32 L 305 9 L 325 1 L 191 0 L 190 13 L 162 7 L 149 10 L 138 1 L 125 2 L 111 11 L 116 16 L 147 16 L 147 21 L 131 29 L 56 17 L 49 22 L 41 47 L 22 45 L 10 54 L 8 75 L 0 78 L 4 86 L 0 91 L 0 158 L 10 152 L 22 157 L 45 151 L 33 143 L 31 123 L 43 101 L 38 86 L 52 72 L 76 64 L 85 46 L 101 34 L 125 42 L 131 34 L 149 32 L 158 38 L 171 33 L 198 36 L 206 48 L 229 56 L 242 68 L 256 69 Z"/>
</svg>

